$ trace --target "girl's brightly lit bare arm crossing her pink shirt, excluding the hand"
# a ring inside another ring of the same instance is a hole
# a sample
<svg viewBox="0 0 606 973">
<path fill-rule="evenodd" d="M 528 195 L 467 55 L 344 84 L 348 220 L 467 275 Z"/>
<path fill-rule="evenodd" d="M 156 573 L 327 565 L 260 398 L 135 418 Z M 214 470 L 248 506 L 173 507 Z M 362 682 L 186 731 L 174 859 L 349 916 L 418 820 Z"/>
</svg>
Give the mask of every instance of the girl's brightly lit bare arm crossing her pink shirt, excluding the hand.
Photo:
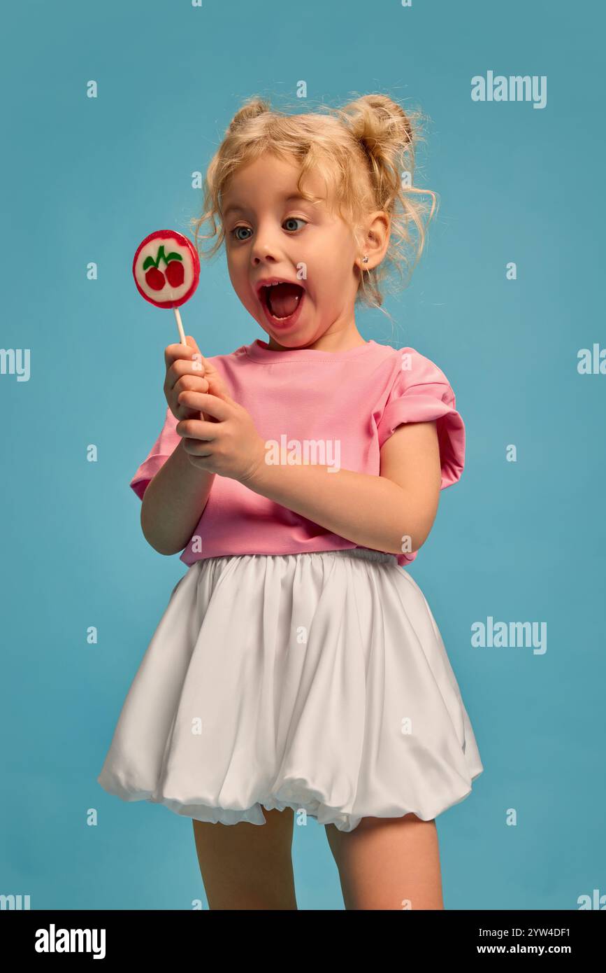
<svg viewBox="0 0 606 973">
<path fill-rule="evenodd" d="M 401 554 L 405 538 L 411 552 L 425 542 L 441 479 L 433 420 L 398 426 L 382 447 L 380 476 L 261 461 L 241 483 L 354 544 Z"/>
</svg>

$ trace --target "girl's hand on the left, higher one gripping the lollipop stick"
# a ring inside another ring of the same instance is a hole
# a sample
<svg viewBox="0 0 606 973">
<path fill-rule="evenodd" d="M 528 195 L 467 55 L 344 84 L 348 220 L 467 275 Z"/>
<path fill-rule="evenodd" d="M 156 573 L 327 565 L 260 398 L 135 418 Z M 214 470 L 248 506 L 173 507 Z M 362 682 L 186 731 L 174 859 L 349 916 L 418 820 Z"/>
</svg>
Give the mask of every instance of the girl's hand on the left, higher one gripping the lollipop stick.
<svg viewBox="0 0 606 973">
<path fill-rule="evenodd" d="M 211 362 L 201 353 L 191 335 L 185 335 L 186 344 L 169 344 L 164 349 L 166 363 L 166 378 L 164 379 L 164 395 L 171 413 L 178 419 L 199 418 L 216 422 L 212 415 L 200 413 L 198 410 L 188 409 L 179 401 L 182 392 L 206 392 L 213 395 L 218 392 L 229 395 L 229 389 L 224 379 Z"/>
</svg>

